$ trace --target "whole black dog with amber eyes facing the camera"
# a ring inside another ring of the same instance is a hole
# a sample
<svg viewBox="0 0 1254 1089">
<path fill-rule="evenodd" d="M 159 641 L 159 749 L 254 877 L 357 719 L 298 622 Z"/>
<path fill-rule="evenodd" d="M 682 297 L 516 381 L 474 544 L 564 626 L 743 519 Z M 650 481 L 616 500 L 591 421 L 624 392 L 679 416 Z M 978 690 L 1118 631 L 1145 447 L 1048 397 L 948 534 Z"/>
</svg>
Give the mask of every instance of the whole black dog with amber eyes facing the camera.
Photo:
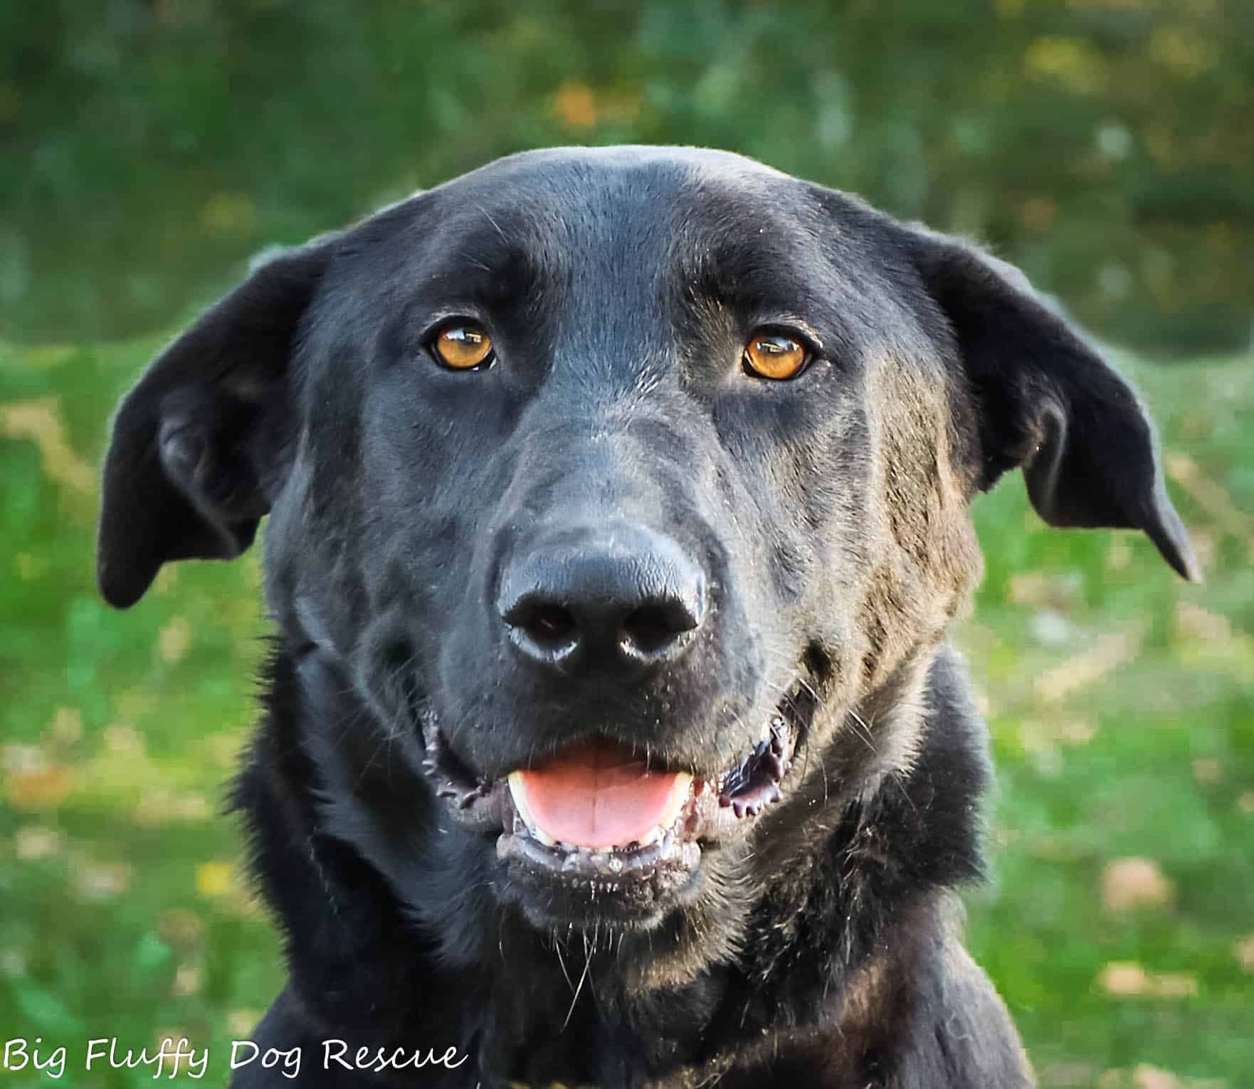
<svg viewBox="0 0 1254 1089">
<path fill-rule="evenodd" d="M 988 768 L 944 642 L 1014 466 L 1194 575 L 1135 396 L 1018 273 L 736 155 L 517 155 L 258 268 L 123 402 L 99 579 L 270 514 L 261 1048 L 1031 1084 L 953 919 Z"/>
</svg>

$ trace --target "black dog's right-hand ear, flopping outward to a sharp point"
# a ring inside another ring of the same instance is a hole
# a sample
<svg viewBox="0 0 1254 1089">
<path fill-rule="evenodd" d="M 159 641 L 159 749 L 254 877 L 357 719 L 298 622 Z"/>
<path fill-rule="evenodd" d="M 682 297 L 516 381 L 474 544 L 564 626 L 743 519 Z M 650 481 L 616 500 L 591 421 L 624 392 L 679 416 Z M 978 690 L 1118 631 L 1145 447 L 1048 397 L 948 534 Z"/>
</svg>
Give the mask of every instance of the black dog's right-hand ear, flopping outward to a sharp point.
<svg viewBox="0 0 1254 1089">
<path fill-rule="evenodd" d="M 1132 388 L 1017 268 L 930 231 L 910 237 L 974 393 L 979 487 L 1022 466 L 1032 505 L 1050 525 L 1144 530 L 1176 571 L 1199 580 Z"/>
</svg>

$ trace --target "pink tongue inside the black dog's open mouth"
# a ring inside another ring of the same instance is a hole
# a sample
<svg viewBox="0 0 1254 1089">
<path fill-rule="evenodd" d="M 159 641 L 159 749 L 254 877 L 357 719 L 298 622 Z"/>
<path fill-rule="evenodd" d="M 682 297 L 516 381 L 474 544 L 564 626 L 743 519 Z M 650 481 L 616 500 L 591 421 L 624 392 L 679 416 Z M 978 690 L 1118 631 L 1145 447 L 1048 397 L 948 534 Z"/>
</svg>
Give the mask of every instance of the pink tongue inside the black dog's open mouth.
<svg viewBox="0 0 1254 1089">
<path fill-rule="evenodd" d="M 646 771 L 613 742 L 563 749 L 522 772 L 532 820 L 559 843 L 622 847 L 643 838 L 666 815 L 678 776 Z"/>
</svg>

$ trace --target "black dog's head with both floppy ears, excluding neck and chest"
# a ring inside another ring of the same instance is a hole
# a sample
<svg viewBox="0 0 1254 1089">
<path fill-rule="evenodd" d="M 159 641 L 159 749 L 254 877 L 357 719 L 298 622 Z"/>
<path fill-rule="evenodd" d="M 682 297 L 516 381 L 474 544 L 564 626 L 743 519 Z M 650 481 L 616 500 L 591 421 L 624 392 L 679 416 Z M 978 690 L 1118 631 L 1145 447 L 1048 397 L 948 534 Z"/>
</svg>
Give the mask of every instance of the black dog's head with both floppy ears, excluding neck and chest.
<svg viewBox="0 0 1254 1089">
<path fill-rule="evenodd" d="M 178 338 L 115 421 L 99 578 L 129 605 L 268 513 L 306 698 L 351 692 L 307 739 L 327 825 L 400 897 L 434 867 L 734 942 L 737 890 L 909 766 L 1016 466 L 1194 574 L 1134 395 L 1013 269 L 731 154 L 538 152 Z"/>
</svg>

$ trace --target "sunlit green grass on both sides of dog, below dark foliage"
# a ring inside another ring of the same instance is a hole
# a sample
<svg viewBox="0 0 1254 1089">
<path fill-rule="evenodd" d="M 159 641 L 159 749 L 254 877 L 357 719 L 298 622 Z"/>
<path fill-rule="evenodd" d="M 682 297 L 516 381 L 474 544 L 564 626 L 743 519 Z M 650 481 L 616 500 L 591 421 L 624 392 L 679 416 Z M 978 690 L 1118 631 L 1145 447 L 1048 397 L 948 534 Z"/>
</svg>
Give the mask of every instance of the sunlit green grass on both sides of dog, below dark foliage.
<svg viewBox="0 0 1254 1089">
<path fill-rule="evenodd" d="M 221 1084 L 281 980 L 218 816 L 266 630 L 256 556 L 167 570 L 123 614 L 93 585 L 105 419 L 154 347 L 0 346 L 0 1043 L 68 1044 L 63 1085 L 150 1084 L 84 1074 L 85 1041 L 169 1033 Z M 1017 479 L 976 508 L 988 574 L 959 643 L 999 789 L 971 946 L 1046 1086 L 1150 1084 L 1147 1064 L 1236 1089 L 1254 1068 L 1251 363 L 1125 363 L 1204 585 L 1137 535 L 1047 530 Z M 1162 881 L 1114 910 L 1127 857 Z"/>
</svg>

